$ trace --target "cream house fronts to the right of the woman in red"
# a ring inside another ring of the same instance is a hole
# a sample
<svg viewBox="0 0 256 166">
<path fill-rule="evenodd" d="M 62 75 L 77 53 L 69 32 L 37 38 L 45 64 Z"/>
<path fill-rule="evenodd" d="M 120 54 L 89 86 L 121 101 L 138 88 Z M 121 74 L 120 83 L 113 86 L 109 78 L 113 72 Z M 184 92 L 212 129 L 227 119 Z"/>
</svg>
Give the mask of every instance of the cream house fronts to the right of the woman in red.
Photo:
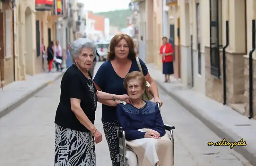
<svg viewBox="0 0 256 166">
<path fill-rule="evenodd" d="M 175 55 L 180 52 L 182 83 L 255 118 L 256 2 L 167 0 L 166 4 L 174 24 L 169 30 L 170 35 L 174 31 Z"/>
</svg>

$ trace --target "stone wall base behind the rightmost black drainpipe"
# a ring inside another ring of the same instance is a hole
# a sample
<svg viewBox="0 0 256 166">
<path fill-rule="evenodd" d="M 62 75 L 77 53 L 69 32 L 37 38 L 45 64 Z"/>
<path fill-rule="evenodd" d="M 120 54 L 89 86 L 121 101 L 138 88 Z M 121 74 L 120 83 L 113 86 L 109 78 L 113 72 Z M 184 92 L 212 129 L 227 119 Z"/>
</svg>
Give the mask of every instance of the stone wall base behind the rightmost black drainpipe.
<svg viewBox="0 0 256 166">
<path fill-rule="evenodd" d="M 245 80 L 245 114 L 249 115 L 249 59 L 244 58 L 244 80 Z M 256 88 L 256 60 L 253 60 L 253 87 Z M 253 90 L 253 114 L 254 119 L 256 119 L 256 91 Z"/>
</svg>

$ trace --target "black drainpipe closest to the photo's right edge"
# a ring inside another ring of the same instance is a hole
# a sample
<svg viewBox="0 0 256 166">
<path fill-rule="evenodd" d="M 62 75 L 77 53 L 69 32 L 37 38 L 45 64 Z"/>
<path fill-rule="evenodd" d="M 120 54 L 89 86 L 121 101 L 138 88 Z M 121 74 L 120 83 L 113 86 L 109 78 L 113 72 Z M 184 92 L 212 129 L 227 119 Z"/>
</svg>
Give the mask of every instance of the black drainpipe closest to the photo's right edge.
<svg viewBox="0 0 256 166">
<path fill-rule="evenodd" d="M 249 54 L 249 119 L 253 118 L 253 64 L 252 53 L 255 50 L 255 20 L 252 20 L 252 50 Z"/>
</svg>

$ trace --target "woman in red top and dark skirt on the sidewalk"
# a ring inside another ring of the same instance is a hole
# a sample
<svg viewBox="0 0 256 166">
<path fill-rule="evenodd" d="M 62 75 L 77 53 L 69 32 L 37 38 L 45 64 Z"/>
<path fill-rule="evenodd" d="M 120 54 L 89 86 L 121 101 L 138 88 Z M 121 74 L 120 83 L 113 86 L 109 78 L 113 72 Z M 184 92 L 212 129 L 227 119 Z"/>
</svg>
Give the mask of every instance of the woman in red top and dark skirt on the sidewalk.
<svg viewBox="0 0 256 166">
<path fill-rule="evenodd" d="M 163 45 L 160 47 L 160 56 L 163 62 L 163 74 L 165 75 L 164 82 L 170 82 L 170 74 L 174 74 L 173 70 L 173 48 L 172 44 L 167 42 L 167 38 L 163 37 Z"/>
</svg>

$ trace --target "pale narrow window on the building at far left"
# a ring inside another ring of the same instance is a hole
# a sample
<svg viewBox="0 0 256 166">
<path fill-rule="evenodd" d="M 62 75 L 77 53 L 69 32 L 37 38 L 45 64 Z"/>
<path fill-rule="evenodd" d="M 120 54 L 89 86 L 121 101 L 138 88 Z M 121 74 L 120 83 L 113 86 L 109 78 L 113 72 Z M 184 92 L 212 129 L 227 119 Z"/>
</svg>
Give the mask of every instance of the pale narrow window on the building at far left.
<svg viewBox="0 0 256 166">
<path fill-rule="evenodd" d="M 12 11 L 6 10 L 5 12 L 5 48 L 6 58 L 12 56 Z"/>
</svg>

